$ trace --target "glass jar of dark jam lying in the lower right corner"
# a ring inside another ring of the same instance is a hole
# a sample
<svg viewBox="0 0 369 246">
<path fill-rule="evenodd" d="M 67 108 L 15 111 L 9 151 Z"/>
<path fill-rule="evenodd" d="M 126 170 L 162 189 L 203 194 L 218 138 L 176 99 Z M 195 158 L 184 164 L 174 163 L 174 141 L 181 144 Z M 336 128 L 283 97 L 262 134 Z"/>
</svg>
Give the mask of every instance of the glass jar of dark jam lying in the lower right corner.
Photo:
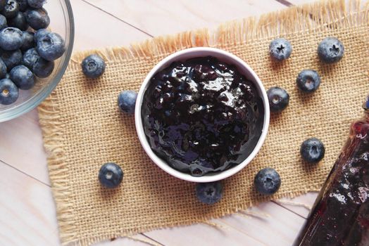
<svg viewBox="0 0 369 246">
<path fill-rule="evenodd" d="M 369 245 L 369 117 L 351 125 L 295 245 Z"/>
</svg>

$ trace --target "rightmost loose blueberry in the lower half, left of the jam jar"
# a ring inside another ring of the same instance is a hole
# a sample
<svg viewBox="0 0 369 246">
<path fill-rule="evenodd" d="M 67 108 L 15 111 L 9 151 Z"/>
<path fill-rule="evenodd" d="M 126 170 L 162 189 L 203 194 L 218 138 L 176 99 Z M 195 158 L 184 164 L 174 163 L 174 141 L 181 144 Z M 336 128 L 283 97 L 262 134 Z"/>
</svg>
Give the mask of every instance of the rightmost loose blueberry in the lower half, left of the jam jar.
<svg viewBox="0 0 369 246">
<path fill-rule="evenodd" d="M 306 162 L 319 162 L 325 154 L 324 144 L 318 138 L 308 138 L 301 144 L 300 154 Z"/>
</svg>

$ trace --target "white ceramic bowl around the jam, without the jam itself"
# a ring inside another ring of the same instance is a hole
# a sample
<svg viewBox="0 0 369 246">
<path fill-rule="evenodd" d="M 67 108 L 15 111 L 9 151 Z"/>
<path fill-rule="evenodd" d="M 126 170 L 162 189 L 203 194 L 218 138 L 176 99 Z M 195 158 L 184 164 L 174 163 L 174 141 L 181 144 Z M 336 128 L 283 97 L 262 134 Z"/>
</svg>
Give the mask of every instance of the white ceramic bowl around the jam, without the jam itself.
<svg viewBox="0 0 369 246">
<path fill-rule="evenodd" d="M 151 77 L 153 77 L 156 72 L 159 72 L 163 70 L 165 67 L 168 67 L 171 63 L 178 60 L 187 60 L 189 58 L 195 58 L 195 57 L 201 57 L 201 56 L 213 56 L 215 58 L 218 58 L 219 60 L 233 64 L 237 67 L 239 72 L 244 75 L 247 79 L 250 79 L 254 82 L 256 85 L 256 89 L 258 90 L 259 96 L 261 96 L 263 100 L 264 105 L 264 122 L 263 122 L 263 131 L 258 139 L 258 143 L 256 143 L 256 146 L 254 150 L 251 152 L 251 154 L 246 157 L 246 159 L 238 164 L 235 167 L 232 167 L 230 169 L 227 169 L 225 171 L 205 174 L 204 176 L 196 177 L 192 176 L 190 174 L 183 173 L 181 171 L 177 171 L 173 167 L 170 167 L 170 165 L 160 157 L 158 157 L 153 150 L 151 150 L 151 147 L 149 145 L 149 141 L 146 138 L 146 135 L 144 133 L 144 127 L 142 124 L 142 117 L 141 117 L 141 109 L 142 109 L 142 101 L 144 98 L 144 93 L 146 91 L 147 86 L 149 85 Z M 136 130 L 139 137 L 139 141 L 142 144 L 142 147 L 144 148 L 145 152 L 151 160 L 153 160 L 158 167 L 166 171 L 168 174 L 173 175 L 177 177 L 178 179 L 183 179 L 186 181 L 192 181 L 192 182 L 212 182 L 212 181 L 218 181 L 221 179 L 225 179 L 229 176 L 232 176 L 233 174 L 236 174 L 238 171 L 246 167 L 247 164 L 251 162 L 251 160 L 254 159 L 258 151 L 261 149 L 261 145 L 263 145 L 266 134 L 268 132 L 269 127 L 269 118 L 270 118 L 270 112 L 269 112 L 269 102 L 268 102 L 268 96 L 266 95 L 265 88 L 263 86 L 263 83 L 261 83 L 261 80 L 258 78 L 254 70 L 249 67 L 243 60 L 238 58 L 237 56 L 234 56 L 232 53 L 229 53 L 227 51 L 220 50 L 218 48 L 208 48 L 208 47 L 199 47 L 199 48 L 187 48 L 182 51 L 178 51 L 176 53 L 173 53 L 172 55 L 164 58 L 159 62 L 146 76 L 144 79 L 144 82 L 139 89 L 139 93 L 137 96 L 136 101 L 136 108 L 135 108 L 135 123 L 136 123 Z"/>
</svg>

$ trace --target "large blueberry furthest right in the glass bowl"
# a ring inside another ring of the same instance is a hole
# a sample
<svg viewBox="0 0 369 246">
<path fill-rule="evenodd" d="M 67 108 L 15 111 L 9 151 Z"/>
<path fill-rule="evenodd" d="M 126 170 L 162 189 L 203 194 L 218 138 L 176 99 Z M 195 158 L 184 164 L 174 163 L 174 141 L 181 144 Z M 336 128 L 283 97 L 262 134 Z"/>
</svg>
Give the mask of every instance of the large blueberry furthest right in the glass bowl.
<svg viewBox="0 0 369 246">
<path fill-rule="evenodd" d="M 61 35 L 50 32 L 37 39 L 37 52 L 45 60 L 56 60 L 65 52 L 65 42 Z"/>
</svg>

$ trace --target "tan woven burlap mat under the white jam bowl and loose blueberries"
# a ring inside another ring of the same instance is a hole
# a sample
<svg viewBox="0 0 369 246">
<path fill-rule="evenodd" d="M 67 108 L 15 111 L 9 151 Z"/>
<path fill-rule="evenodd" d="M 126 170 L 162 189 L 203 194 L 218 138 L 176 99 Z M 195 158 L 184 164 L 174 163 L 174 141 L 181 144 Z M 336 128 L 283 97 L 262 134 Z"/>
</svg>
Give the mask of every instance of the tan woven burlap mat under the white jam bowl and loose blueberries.
<svg viewBox="0 0 369 246">
<path fill-rule="evenodd" d="M 361 103 L 369 91 L 368 10 L 368 4 L 359 1 L 346 5 L 324 1 L 228 22 L 215 33 L 197 30 L 129 48 L 76 53 L 62 82 L 39 107 L 62 242 L 89 245 L 154 228 L 201 223 L 265 200 L 319 190 L 350 122 L 361 116 Z M 268 55 L 275 37 L 289 39 L 293 46 L 292 56 L 282 63 Z M 343 42 L 345 55 L 339 63 L 325 65 L 318 60 L 317 46 L 325 37 Z M 138 91 L 159 60 L 193 46 L 234 53 L 251 65 L 265 88 L 282 86 L 290 95 L 287 110 L 271 115 L 261 152 L 224 181 L 223 200 L 211 206 L 196 200 L 194 183 L 166 174 L 149 160 L 137 138 L 134 117 L 119 112 L 117 106 L 121 90 Z M 106 60 L 106 72 L 99 79 L 82 74 L 80 62 L 90 53 Z M 322 83 L 313 94 L 296 89 L 296 76 L 303 69 L 320 74 Z M 303 162 L 299 155 L 302 141 L 312 136 L 326 147 L 325 158 L 317 165 Z M 123 168 L 120 188 L 101 188 L 97 174 L 105 162 Z M 263 167 L 277 169 L 282 177 L 273 196 L 254 190 L 254 176 Z"/>
</svg>

